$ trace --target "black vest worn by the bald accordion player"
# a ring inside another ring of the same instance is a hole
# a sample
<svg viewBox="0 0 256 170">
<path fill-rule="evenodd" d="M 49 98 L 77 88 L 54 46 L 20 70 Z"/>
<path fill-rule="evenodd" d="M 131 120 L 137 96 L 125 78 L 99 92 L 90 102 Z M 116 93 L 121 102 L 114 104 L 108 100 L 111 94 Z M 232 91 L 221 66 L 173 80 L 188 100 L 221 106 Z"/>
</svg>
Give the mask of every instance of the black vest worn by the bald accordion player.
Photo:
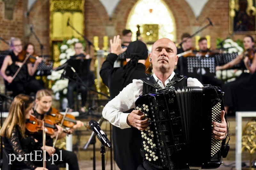
<svg viewBox="0 0 256 170">
<path fill-rule="evenodd" d="M 153 75 L 151 75 L 148 78 L 143 78 L 140 80 L 144 82 L 142 91 L 143 94 L 155 92 L 156 89 L 161 89 L 160 86 L 156 83 L 156 80 L 154 79 Z M 182 89 L 184 86 L 187 86 L 187 80 L 188 78 L 186 76 L 182 74 L 175 74 L 171 82 L 168 83 L 165 88 L 167 88 L 167 86 L 169 85 L 168 87 L 172 86 L 175 88 L 175 90 L 177 90 L 178 88 Z"/>
</svg>

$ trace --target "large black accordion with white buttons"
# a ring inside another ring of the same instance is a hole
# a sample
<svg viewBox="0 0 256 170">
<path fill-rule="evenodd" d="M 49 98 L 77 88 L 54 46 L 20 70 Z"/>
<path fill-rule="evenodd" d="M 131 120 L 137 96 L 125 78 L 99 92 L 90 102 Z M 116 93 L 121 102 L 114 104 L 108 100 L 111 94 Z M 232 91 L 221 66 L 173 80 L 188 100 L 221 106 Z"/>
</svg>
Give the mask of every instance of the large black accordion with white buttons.
<svg viewBox="0 0 256 170">
<path fill-rule="evenodd" d="M 142 154 L 154 167 L 214 169 L 221 165 L 220 140 L 212 122 L 220 122 L 223 92 L 216 86 L 173 87 L 140 96 L 136 109 L 149 119 L 141 131 Z"/>
</svg>

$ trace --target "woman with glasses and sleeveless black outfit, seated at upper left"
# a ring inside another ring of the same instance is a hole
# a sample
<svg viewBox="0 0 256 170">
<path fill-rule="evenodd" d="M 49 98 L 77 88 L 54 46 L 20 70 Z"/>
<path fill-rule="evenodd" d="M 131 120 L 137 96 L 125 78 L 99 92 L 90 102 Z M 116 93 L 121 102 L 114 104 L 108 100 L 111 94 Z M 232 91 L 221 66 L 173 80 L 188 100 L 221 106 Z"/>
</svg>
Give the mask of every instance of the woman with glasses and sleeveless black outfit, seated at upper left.
<svg viewBox="0 0 256 170">
<path fill-rule="evenodd" d="M 35 74 L 36 68 L 42 59 L 38 58 L 33 67 L 29 63 L 22 65 L 22 61 L 19 60 L 19 54 L 22 52 L 21 40 L 12 37 L 9 44 L 12 51 L 10 55 L 5 57 L 0 70 L 0 74 L 5 80 L 5 87 L 13 91 L 14 96 L 20 93 L 36 93 L 36 91 L 43 89 L 42 85 L 36 79 L 30 77 Z M 17 72 L 19 68 L 20 71 Z M 15 73 L 17 75 L 14 77 Z"/>
</svg>

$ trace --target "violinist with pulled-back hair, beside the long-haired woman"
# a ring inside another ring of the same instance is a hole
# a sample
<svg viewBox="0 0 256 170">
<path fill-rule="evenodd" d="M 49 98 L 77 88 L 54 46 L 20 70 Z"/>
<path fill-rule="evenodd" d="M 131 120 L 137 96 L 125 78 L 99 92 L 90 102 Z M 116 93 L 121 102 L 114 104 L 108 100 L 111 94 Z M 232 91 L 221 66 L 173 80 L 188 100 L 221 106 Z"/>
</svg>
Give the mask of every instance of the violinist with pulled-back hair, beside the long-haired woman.
<svg viewBox="0 0 256 170">
<path fill-rule="evenodd" d="M 47 89 L 42 89 L 39 90 L 36 93 L 36 107 L 35 107 L 35 111 L 34 111 L 34 115 L 39 119 L 42 120 L 44 118 L 44 115 L 47 114 L 47 112 L 51 109 L 52 107 L 52 95 L 50 93 L 49 90 Z M 84 123 L 81 121 L 76 121 L 76 124 L 70 129 L 70 131 L 73 131 L 74 129 L 83 126 Z M 63 138 L 66 134 L 65 133 L 60 133 L 59 138 Z M 63 149 L 58 149 L 58 148 L 54 148 L 53 146 L 53 137 L 55 137 L 55 135 L 53 136 L 46 136 L 46 152 L 48 154 L 46 154 L 46 158 L 49 158 L 49 155 L 56 153 L 58 154 L 59 158 L 60 158 L 60 153 L 62 153 L 62 160 L 63 161 L 56 161 L 56 164 L 59 163 L 68 163 L 69 168 L 70 169 L 79 169 L 78 167 L 78 161 L 77 161 L 77 157 L 76 154 L 74 152 L 70 152 L 70 151 L 66 151 Z M 40 141 L 40 143 L 42 143 L 42 135 L 36 135 L 35 138 Z M 61 152 L 60 152 L 61 151 Z M 51 162 L 48 162 L 51 163 Z M 48 167 L 46 164 L 46 167 L 49 169 L 54 169 L 57 168 L 56 165 L 51 165 L 51 167 Z"/>
</svg>

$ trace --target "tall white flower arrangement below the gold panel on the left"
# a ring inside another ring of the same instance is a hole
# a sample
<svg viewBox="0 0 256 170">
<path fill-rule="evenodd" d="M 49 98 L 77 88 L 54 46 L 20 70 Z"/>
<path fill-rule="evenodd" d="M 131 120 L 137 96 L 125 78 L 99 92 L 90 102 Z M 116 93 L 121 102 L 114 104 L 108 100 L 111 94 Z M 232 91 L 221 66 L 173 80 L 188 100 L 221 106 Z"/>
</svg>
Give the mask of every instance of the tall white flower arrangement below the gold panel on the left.
<svg viewBox="0 0 256 170">
<path fill-rule="evenodd" d="M 59 45 L 61 52 L 59 56 L 60 66 L 63 65 L 70 58 L 70 56 L 76 54 L 74 50 L 74 45 L 76 42 L 81 42 L 84 44 L 84 41 L 77 38 L 72 38 L 69 40 L 63 40 L 62 45 Z M 61 95 L 66 95 L 68 92 L 68 79 L 64 78 L 63 80 L 59 80 L 63 71 L 63 69 L 59 71 L 52 71 L 52 74 L 47 76 L 48 80 L 52 80 L 52 91 L 55 93 L 55 98 L 57 100 L 60 99 Z"/>
</svg>

